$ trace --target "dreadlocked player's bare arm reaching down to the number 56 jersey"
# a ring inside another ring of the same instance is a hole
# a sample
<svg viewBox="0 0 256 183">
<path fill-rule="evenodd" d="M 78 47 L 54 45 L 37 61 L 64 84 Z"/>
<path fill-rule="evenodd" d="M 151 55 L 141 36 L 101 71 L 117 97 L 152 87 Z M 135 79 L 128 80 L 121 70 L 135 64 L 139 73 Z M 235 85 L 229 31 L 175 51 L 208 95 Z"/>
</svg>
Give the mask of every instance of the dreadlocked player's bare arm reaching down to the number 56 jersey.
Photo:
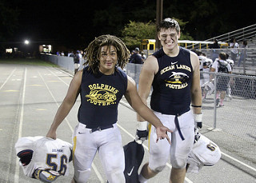
<svg viewBox="0 0 256 183">
<path fill-rule="evenodd" d="M 66 97 L 62 101 L 62 105 L 59 106 L 57 113 L 55 114 L 54 121 L 50 126 L 46 137 L 51 137 L 56 139 L 56 130 L 58 125 L 62 123 L 68 113 L 70 113 L 70 109 L 72 109 L 81 86 L 82 81 L 82 70 L 78 71 L 77 74 L 74 75 L 74 78 L 70 82 L 70 87 L 66 93 Z"/>
</svg>

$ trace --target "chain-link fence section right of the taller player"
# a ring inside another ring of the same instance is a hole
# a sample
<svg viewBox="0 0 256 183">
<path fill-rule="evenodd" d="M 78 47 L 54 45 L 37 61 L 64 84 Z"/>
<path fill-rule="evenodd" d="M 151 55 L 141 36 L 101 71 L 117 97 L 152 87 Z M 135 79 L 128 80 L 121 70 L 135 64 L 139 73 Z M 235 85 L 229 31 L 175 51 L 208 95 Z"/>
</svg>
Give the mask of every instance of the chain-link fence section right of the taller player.
<svg viewBox="0 0 256 183">
<path fill-rule="evenodd" d="M 216 131 L 210 139 L 256 163 L 256 77 L 202 73 L 214 78 L 202 85 L 204 133 Z"/>
</svg>

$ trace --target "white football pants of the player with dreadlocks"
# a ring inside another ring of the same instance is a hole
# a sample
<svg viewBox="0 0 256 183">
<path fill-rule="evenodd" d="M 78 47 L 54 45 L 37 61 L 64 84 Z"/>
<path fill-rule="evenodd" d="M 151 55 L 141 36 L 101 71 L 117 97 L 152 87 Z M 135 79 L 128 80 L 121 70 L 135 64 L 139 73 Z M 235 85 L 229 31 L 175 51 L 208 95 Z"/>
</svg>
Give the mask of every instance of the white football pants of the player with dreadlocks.
<svg viewBox="0 0 256 183">
<path fill-rule="evenodd" d="M 121 133 L 118 126 L 90 132 L 86 125 L 78 123 L 73 134 L 74 179 L 77 182 L 87 182 L 90 168 L 98 151 L 107 180 L 110 183 L 126 182 L 123 171 L 125 157 L 122 147 Z"/>
</svg>

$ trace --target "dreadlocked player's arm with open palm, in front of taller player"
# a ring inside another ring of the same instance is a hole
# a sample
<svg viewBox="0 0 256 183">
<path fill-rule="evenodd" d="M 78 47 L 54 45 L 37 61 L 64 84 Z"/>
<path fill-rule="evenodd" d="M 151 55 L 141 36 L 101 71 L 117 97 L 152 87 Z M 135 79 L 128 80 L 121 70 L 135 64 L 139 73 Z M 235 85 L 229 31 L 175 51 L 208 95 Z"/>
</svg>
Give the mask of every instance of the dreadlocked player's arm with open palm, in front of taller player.
<svg viewBox="0 0 256 183">
<path fill-rule="evenodd" d="M 138 96 L 138 92 L 136 89 L 136 83 L 130 77 L 128 77 L 128 85 L 125 93 L 126 100 L 132 106 L 132 108 L 146 121 L 149 121 L 154 127 L 157 129 L 158 138 L 163 139 L 166 138 L 169 143 L 170 139 L 167 135 L 167 132 L 172 133 L 170 129 L 167 129 L 162 122 L 158 119 L 158 117 L 148 108 L 143 102 L 142 99 Z"/>
</svg>

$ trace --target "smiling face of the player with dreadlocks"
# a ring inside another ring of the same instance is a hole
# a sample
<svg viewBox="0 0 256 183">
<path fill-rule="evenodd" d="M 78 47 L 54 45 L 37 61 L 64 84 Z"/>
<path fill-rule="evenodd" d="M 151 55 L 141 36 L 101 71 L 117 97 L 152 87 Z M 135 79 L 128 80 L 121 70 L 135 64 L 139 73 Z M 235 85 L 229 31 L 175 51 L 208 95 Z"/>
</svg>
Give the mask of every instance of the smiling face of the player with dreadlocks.
<svg viewBox="0 0 256 183">
<path fill-rule="evenodd" d="M 113 74 L 114 66 L 118 62 L 116 48 L 114 46 L 102 46 L 99 60 L 99 70 L 102 74 Z"/>
</svg>

